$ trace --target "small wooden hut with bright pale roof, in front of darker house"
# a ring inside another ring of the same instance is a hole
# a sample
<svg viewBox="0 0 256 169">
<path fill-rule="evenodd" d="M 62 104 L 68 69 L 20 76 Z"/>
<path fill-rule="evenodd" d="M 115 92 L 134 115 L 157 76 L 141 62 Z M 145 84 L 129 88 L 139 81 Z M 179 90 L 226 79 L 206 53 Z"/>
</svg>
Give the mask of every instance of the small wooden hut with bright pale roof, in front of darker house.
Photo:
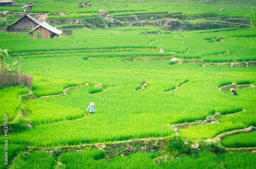
<svg viewBox="0 0 256 169">
<path fill-rule="evenodd" d="M 30 34 L 30 37 L 35 39 L 34 33 L 36 31 L 40 31 L 40 39 L 44 38 L 54 38 L 55 35 L 60 35 L 62 34 L 62 31 L 56 29 L 55 27 L 49 25 L 46 22 L 42 22 L 38 26 L 36 26 L 32 31 L 30 31 L 28 34 Z"/>
</svg>

